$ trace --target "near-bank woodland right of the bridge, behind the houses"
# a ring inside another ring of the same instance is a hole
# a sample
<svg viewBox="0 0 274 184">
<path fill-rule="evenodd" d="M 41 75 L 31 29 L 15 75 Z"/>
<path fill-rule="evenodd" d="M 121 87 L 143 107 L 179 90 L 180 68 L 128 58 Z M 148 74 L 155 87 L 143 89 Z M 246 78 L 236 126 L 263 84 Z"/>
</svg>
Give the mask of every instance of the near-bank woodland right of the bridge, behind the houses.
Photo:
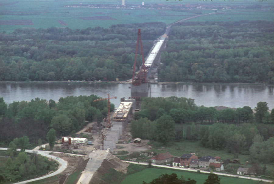
<svg viewBox="0 0 274 184">
<path fill-rule="evenodd" d="M 268 110 L 266 102 L 258 102 L 253 113 L 248 106 L 236 110 L 198 107 L 193 99 L 183 97 L 144 98 L 142 110 L 131 122 L 131 133 L 163 145 L 199 141 L 203 147 L 226 150 L 235 158 L 245 154 L 252 161 L 274 163 L 274 109 Z"/>
</svg>

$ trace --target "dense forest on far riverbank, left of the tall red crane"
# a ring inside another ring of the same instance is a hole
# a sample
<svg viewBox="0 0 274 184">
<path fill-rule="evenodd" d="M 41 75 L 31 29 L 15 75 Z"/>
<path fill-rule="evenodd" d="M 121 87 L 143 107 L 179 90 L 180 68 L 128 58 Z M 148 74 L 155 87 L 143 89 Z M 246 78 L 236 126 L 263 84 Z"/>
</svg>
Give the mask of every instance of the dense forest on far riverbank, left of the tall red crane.
<svg viewBox="0 0 274 184">
<path fill-rule="evenodd" d="M 0 33 L 0 81 L 128 79 L 132 76 L 138 28 L 146 54 L 153 40 L 164 33 L 166 24 L 84 30 L 21 28 Z M 139 54 L 138 61 L 140 58 Z"/>
</svg>

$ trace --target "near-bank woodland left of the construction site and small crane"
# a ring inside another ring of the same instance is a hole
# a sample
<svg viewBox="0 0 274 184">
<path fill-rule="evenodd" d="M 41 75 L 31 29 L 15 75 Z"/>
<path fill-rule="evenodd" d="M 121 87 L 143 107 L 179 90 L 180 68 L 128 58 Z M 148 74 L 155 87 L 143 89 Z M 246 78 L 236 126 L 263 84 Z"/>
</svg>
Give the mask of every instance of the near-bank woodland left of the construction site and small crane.
<svg viewBox="0 0 274 184">
<path fill-rule="evenodd" d="M 96 95 L 68 96 L 54 100 L 36 98 L 30 102 L 13 102 L 7 105 L 0 98 L 0 147 L 7 146 L 14 138 L 27 136 L 30 144 L 46 142 L 48 131 L 53 128 L 56 136 L 75 134 L 86 121 L 99 123 L 107 116 L 107 101 Z M 114 104 L 111 104 L 111 111 Z M 21 147 L 19 147 L 21 148 Z"/>
</svg>

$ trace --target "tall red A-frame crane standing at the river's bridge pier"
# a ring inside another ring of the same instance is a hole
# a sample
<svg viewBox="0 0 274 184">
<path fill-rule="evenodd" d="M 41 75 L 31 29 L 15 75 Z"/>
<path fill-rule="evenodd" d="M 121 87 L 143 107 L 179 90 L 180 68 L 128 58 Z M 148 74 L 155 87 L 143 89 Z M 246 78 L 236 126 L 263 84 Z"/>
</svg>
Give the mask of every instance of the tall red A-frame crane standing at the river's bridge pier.
<svg viewBox="0 0 274 184">
<path fill-rule="evenodd" d="M 138 51 L 139 41 L 140 41 L 140 46 L 141 46 L 143 63 L 142 63 L 141 70 L 138 72 L 138 74 L 136 76 L 134 76 L 135 75 L 136 58 L 137 58 L 137 51 Z M 141 85 L 144 82 L 147 82 L 146 81 L 146 66 L 145 66 L 143 47 L 142 47 L 141 29 L 138 29 L 138 37 L 137 37 L 137 44 L 136 44 L 135 58 L 134 58 L 134 66 L 133 66 L 133 75 L 132 75 L 132 85 Z"/>
</svg>

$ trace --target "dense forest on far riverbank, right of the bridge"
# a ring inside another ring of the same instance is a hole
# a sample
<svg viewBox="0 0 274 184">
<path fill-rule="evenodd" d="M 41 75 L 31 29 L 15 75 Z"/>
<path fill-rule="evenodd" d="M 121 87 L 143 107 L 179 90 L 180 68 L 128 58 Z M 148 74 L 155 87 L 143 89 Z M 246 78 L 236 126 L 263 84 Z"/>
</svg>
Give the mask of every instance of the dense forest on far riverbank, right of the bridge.
<svg viewBox="0 0 274 184">
<path fill-rule="evenodd" d="M 161 54 L 161 82 L 274 83 L 273 21 L 182 22 Z"/>
</svg>

